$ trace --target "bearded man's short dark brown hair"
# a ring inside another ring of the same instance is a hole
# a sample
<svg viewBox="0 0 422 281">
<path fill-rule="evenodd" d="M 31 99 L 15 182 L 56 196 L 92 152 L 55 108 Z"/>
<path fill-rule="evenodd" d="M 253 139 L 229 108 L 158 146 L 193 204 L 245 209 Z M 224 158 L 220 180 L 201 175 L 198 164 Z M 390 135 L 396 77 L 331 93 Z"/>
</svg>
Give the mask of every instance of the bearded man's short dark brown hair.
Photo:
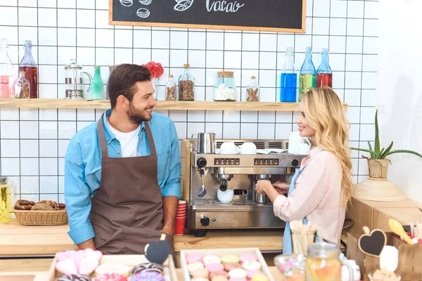
<svg viewBox="0 0 422 281">
<path fill-rule="evenodd" d="M 136 82 L 151 81 L 151 72 L 141 65 L 124 63 L 117 65 L 108 78 L 107 93 L 110 97 L 111 108 L 117 103 L 117 97 L 125 96 L 132 101 L 136 93 Z"/>
</svg>

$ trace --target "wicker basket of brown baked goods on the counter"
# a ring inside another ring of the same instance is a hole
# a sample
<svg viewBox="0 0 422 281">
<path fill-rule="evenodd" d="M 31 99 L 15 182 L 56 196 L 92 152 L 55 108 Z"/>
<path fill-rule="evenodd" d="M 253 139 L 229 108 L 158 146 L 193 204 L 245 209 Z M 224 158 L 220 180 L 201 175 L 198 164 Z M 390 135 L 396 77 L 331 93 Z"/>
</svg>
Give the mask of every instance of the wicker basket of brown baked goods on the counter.
<svg viewBox="0 0 422 281">
<path fill-rule="evenodd" d="M 21 226 L 62 226 L 68 223 L 66 205 L 51 200 L 18 200 L 13 214 Z"/>
</svg>

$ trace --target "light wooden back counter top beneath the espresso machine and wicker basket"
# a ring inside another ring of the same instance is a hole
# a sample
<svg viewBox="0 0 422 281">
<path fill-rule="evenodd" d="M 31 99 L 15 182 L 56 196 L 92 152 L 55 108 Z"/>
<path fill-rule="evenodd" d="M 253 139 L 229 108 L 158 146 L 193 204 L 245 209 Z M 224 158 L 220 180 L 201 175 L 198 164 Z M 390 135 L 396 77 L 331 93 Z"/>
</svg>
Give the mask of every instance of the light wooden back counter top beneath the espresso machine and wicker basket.
<svg viewBox="0 0 422 281">
<path fill-rule="evenodd" d="M 77 249 L 68 235 L 69 226 L 20 226 L 18 221 L 0 225 L 1 256 L 53 256 L 57 251 Z M 209 230 L 205 237 L 174 236 L 174 249 L 257 247 L 281 251 L 283 230 Z"/>
</svg>

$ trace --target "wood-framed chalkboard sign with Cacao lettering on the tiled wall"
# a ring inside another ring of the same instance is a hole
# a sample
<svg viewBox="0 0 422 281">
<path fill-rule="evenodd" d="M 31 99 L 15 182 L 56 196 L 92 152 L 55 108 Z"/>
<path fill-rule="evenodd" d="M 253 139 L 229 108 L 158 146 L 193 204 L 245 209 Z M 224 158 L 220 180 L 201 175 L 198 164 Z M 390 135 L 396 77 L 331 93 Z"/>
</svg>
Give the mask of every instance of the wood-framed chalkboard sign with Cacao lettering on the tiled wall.
<svg viewBox="0 0 422 281">
<path fill-rule="evenodd" d="M 306 0 L 109 0 L 110 25 L 305 33 Z"/>
</svg>

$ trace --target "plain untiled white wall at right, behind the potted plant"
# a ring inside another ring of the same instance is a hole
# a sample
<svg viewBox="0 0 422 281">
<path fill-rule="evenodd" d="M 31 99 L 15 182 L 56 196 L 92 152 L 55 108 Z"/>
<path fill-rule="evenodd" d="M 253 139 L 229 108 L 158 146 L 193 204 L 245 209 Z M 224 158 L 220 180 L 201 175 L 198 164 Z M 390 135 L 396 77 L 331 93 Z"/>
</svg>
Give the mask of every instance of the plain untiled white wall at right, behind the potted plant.
<svg viewBox="0 0 422 281">
<path fill-rule="evenodd" d="M 378 122 L 382 145 L 422 154 L 422 1 L 380 1 Z M 390 181 L 422 202 L 422 159 L 390 157 Z"/>
</svg>

